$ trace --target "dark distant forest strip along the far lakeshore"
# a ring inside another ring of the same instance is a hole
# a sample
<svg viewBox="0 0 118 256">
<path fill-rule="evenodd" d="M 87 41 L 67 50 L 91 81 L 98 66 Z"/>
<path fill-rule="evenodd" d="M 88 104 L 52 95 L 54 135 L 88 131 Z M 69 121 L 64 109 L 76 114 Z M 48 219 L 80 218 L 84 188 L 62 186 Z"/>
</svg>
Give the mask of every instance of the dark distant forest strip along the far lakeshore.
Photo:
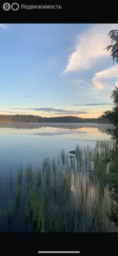
<svg viewBox="0 0 118 256">
<path fill-rule="evenodd" d="M 110 123 L 105 115 L 98 118 L 81 118 L 76 116 L 41 117 L 35 115 L 0 115 L 0 122 L 27 123 Z"/>
</svg>

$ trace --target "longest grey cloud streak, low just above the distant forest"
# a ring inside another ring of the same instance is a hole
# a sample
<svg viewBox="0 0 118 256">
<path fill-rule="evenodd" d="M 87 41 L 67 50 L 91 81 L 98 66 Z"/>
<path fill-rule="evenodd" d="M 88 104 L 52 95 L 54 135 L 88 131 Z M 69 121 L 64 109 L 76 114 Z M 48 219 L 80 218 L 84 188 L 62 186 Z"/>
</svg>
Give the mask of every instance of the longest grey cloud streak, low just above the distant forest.
<svg viewBox="0 0 118 256">
<path fill-rule="evenodd" d="M 34 110 L 34 111 L 43 111 L 43 112 L 55 112 L 58 114 L 87 114 L 86 111 L 77 111 L 77 110 L 65 110 L 65 109 L 58 109 L 58 108 L 10 108 L 10 109 L 19 109 L 19 110 Z"/>
</svg>

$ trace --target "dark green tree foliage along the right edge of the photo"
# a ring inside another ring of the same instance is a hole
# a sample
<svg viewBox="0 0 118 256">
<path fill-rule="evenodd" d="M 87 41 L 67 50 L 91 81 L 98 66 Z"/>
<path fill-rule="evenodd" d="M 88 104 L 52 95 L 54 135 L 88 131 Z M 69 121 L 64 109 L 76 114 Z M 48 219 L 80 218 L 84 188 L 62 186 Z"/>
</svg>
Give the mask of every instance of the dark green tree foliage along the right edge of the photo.
<svg viewBox="0 0 118 256">
<path fill-rule="evenodd" d="M 113 64 L 118 64 L 118 30 L 112 29 L 108 36 L 111 39 L 111 44 L 105 48 L 110 51 Z M 112 110 L 105 111 L 104 114 L 110 123 L 115 126 L 114 129 L 108 129 L 112 139 L 115 141 L 115 147 L 111 151 L 110 160 L 110 174 L 106 177 L 106 180 L 110 182 L 109 193 L 111 193 L 112 206 L 110 214 L 107 213 L 110 220 L 118 226 L 118 87 L 112 91 L 110 99 L 113 102 Z"/>
</svg>

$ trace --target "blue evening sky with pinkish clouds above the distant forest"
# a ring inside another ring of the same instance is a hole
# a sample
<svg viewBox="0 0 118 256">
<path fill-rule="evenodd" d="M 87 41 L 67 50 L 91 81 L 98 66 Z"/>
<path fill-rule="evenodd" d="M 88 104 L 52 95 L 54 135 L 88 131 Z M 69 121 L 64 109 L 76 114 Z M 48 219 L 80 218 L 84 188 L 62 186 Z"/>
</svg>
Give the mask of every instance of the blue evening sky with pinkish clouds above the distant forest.
<svg viewBox="0 0 118 256">
<path fill-rule="evenodd" d="M 118 65 L 103 49 L 118 24 L 0 24 L 0 114 L 97 118 Z"/>
</svg>

